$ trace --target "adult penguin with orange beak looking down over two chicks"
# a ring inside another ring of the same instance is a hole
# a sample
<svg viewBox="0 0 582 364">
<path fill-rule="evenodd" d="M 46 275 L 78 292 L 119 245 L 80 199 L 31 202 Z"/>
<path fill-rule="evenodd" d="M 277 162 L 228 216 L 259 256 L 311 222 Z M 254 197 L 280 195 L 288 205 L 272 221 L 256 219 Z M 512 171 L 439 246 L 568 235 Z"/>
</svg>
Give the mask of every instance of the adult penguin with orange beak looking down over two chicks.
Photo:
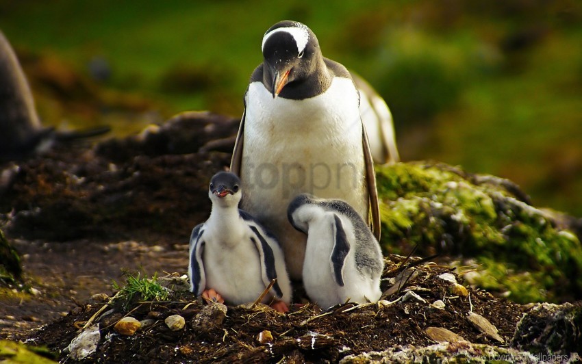
<svg viewBox="0 0 582 364">
<path fill-rule="evenodd" d="M 281 21 L 262 40 L 264 61 L 244 96 L 231 171 L 246 186 L 242 209 L 278 237 L 290 276 L 300 280 L 306 238 L 287 220 L 294 196 L 338 198 L 380 233 L 375 172 L 344 66 L 323 57 L 307 26 Z"/>
</svg>

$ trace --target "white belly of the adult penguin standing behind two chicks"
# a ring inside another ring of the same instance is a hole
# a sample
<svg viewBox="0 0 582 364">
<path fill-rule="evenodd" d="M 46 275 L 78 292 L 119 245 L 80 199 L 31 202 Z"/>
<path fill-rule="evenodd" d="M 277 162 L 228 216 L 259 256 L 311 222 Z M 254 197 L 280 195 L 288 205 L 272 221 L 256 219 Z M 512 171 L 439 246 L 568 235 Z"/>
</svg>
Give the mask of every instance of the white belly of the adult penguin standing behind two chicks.
<svg viewBox="0 0 582 364">
<path fill-rule="evenodd" d="M 290 276 L 300 279 L 305 235 L 286 216 L 294 196 L 340 198 L 368 219 L 357 90 L 350 79 L 336 77 L 326 92 L 310 99 L 273 99 L 262 83 L 253 82 L 245 113 L 242 209 L 275 233 Z"/>
</svg>

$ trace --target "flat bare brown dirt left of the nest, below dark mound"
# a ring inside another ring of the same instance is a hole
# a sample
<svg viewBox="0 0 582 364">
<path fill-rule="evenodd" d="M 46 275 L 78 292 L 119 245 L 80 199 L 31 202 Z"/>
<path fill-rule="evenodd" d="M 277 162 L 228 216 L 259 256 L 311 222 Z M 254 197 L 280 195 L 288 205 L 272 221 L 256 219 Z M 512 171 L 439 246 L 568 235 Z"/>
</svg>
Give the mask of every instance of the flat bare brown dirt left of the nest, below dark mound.
<svg viewBox="0 0 582 364">
<path fill-rule="evenodd" d="M 15 240 L 21 253 L 25 283 L 36 294 L 0 300 L 0 338 L 27 335 L 29 330 L 66 315 L 93 294 L 112 293 L 123 284 L 124 270 L 186 272 L 188 245 L 147 245 L 140 242 L 40 242 Z M 82 304 L 81 304 L 82 305 Z"/>
</svg>

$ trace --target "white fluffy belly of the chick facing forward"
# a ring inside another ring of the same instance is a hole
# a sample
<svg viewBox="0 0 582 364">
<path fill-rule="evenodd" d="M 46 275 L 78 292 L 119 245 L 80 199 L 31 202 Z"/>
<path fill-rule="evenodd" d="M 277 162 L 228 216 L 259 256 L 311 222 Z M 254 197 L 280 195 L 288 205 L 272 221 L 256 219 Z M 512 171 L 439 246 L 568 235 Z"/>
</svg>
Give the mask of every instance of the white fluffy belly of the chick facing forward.
<svg viewBox="0 0 582 364">
<path fill-rule="evenodd" d="M 266 288 L 259 253 L 250 239 L 229 247 L 206 242 L 203 260 L 206 287 L 215 289 L 231 304 L 253 302 Z"/>
</svg>

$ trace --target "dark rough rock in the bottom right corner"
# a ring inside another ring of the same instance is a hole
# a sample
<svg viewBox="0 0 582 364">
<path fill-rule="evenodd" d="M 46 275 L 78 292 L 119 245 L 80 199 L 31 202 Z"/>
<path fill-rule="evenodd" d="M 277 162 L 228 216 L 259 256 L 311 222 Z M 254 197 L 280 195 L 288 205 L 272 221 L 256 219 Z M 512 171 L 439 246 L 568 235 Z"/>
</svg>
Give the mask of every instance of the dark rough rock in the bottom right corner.
<svg viewBox="0 0 582 364">
<path fill-rule="evenodd" d="M 582 356 L 582 302 L 535 304 L 518 322 L 511 345 L 534 353 Z"/>
</svg>

